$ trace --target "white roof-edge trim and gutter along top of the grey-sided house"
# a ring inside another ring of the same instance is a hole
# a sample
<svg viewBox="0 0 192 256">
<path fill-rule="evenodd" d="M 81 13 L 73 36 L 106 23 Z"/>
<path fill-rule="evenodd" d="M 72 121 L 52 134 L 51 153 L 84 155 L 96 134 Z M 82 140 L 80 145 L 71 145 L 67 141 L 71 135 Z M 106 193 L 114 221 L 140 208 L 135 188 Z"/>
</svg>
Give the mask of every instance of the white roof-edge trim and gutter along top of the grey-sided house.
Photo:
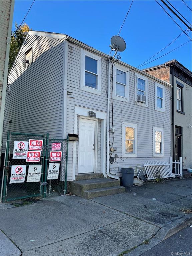
<svg viewBox="0 0 192 256">
<path fill-rule="evenodd" d="M 70 36 L 68 36 L 68 35 L 66 35 L 66 34 L 45 32 L 45 31 L 35 31 L 35 30 L 30 30 L 30 31 L 28 32 L 28 34 L 27 34 L 27 36 L 26 36 L 26 38 L 25 38 L 25 40 L 24 40 L 24 42 L 23 42 L 23 44 L 22 44 L 22 46 L 21 46 L 21 48 L 20 48 L 20 50 L 19 50 L 19 53 L 21 52 L 21 50 L 22 50 L 22 48 L 23 48 L 23 46 L 24 46 L 24 44 L 25 44 L 25 41 L 26 41 L 26 39 L 27 39 L 27 37 L 28 37 L 29 35 L 44 36 L 44 37 L 51 37 L 51 38 L 57 38 L 57 39 L 65 39 L 65 40 L 67 40 L 67 41 L 69 41 L 69 42 L 71 42 L 71 43 L 74 43 L 74 44 L 76 44 L 76 45 L 78 45 L 78 46 L 80 46 L 80 47 L 82 47 L 82 48 L 84 48 L 84 49 L 87 49 L 87 50 L 89 50 L 89 51 L 91 51 L 91 52 L 93 52 L 93 53 L 99 54 L 99 55 L 103 56 L 104 58 L 107 58 L 107 59 L 110 58 L 109 55 L 107 55 L 107 54 L 105 54 L 105 53 L 103 53 L 103 52 L 101 52 L 101 51 L 98 51 L 98 50 L 96 50 L 95 48 L 93 48 L 93 47 L 91 47 L 91 46 L 89 46 L 89 45 L 87 45 L 87 44 L 85 44 L 85 43 L 82 43 L 81 41 L 79 41 L 79 40 L 77 40 L 77 39 L 74 39 L 74 38 L 72 38 L 72 37 L 70 37 Z M 18 56 L 19 56 L 19 53 L 17 54 L 17 57 L 16 57 L 16 59 L 15 59 L 13 65 L 12 65 L 12 67 L 11 67 L 11 69 L 10 69 L 9 74 L 11 73 L 15 62 L 17 61 L 17 58 L 18 58 Z M 114 58 L 114 59 L 115 59 L 115 58 Z M 120 60 L 119 60 L 118 63 L 119 63 L 119 64 L 122 64 L 123 66 L 128 67 L 128 68 L 131 69 L 131 70 L 133 69 L 133 70 L 135 70 L 135 72 L 137 72 L 137 73 L 139 73 L 139 74 L 142 74 L 142 75 L 144 75 L 144 76 L 147 76 L 147 77 L 149 77 L 150 79 L 155 80 L 155 81 L 158 82 L 158 83 L 161 83 L 161 84 L 164 84 L 164 85 L 166 85 L 166 86 L 172 87 L 171 84 L 169 84 L 169 83 L 167 83 L 167 82 L 165 82 L 165 81 L 162 81 L 162 80 L 160 80 L 160 79 L 158 79 L 158 78 L 156 78 L 156 77 L 154 77 L 154 76 L 151 76 L 151 75 L 149 75 L 149 74 L 143 72 L 142 70 L 139 70 L 139 69 L 137 69 L 137 68 L 135 68 L 135 67 L 133 67 L 133 66 L 130 66 L 129 64 L 127 64 L 127 63 L 125 63 L 125 62 L 123 62 L 123 61 L 120 61 Z"/>
</svg>

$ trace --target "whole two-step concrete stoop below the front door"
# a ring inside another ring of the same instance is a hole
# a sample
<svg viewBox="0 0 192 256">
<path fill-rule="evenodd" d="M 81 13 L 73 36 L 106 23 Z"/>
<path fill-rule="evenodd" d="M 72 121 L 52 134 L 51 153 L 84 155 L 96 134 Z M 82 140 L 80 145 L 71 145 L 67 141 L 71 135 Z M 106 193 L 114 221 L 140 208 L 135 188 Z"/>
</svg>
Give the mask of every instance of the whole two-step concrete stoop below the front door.
<svg viewBox="0 0 192 256">
<path fill-rule="evenodd" d="M 69 192 L 76 196 L 91 199 L 124 193 L 125 187 L 120 186 L 119 180 L 110 178 L 82 179 L 69 182 Z"/>
</svg>

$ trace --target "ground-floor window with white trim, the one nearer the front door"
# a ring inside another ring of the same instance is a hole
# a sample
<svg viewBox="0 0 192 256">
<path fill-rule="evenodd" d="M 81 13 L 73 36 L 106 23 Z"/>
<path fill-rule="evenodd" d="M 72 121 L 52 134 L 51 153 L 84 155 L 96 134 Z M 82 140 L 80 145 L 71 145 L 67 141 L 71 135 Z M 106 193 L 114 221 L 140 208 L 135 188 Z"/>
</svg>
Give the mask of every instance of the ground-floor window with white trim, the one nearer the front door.
<svg viewBox="0 0 192 256">
<path fill-rule="evenodd" d="M 131 123 L 122 124 L 122 156 L 137 156 L 137 125 Z"/>
</svg>

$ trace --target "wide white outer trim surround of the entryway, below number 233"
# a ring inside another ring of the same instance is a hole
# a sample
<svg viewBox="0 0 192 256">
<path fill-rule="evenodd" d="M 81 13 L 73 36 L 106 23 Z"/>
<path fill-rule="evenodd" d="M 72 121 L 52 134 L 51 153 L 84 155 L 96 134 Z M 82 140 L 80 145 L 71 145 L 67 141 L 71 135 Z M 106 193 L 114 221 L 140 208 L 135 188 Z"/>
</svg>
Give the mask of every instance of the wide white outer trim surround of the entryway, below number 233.
<svg viewBox="0 0 192 256">
<path fill-rule="evenodd" d="M 77 116 L 88 117 L 88 112 L 93 111 L 96 114 L 96 118 L 101 120 L 101 173 L 106 177 L 106 112 L 95 110 L 93 108 L 86 108 L 81 106 L 74 106 L 74 134 L 77 134 Z M 69 145 L 70 146 L 70 145 Z M 76 154 L 77 154 L 77 142 L 73 142 L 73 155 L 72 155 L 72 180 L 75 180 L 76 169 Z M 68 161 L 69 162 L 69 161 Z"/>
</svg>

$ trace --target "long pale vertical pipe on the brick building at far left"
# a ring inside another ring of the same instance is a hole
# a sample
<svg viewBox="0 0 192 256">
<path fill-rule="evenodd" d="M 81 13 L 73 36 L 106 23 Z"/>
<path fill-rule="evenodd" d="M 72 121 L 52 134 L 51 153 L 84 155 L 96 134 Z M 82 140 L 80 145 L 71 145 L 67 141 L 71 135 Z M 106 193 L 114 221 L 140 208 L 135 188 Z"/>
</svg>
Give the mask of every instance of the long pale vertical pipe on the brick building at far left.
<svg viewBox="0 0 192 256">
<path fill-rule="evenodd" d="M 4 67 L 4 76 L 3 76 L 3 89 L 1 96 L 1 109 L 0 109 L 0 159 L 1 159 L 1 148 L 2 148 L 2 138 L 3 138 L 3 120 L 5 112 L 5 97 L 6 97 L 6 88 L 7 88 L 7 75 L 8 75 L 8 65 L 9 65 L 9 51 L 10 51 L 10 42 L 11 42 L 11 29 L 13 23 L 13 10 L 14 10 L 15 1 L 11 1 L 11 9 L 9 16 L 9 28 L 7 33 L 7 46 L 5 53 L 5 67 Z"/>
</svg>

